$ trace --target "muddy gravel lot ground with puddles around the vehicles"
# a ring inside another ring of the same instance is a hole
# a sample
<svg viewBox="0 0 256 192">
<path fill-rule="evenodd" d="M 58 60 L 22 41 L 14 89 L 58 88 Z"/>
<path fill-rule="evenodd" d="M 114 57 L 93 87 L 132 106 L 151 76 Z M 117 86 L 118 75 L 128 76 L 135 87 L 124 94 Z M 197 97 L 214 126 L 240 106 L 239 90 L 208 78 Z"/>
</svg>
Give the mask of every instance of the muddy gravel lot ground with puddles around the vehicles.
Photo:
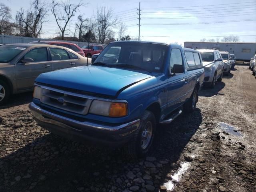
<svg viewBox="0 0 256 192">
<path fill-rule="evenodd" d="M 32 93 L 0 109 L 0 191 L 256 191 L 256 79 L 236 66 L 197 109 L 158 126 L 148 157 L 71 142 L 40 128 Z"/>
</svg>

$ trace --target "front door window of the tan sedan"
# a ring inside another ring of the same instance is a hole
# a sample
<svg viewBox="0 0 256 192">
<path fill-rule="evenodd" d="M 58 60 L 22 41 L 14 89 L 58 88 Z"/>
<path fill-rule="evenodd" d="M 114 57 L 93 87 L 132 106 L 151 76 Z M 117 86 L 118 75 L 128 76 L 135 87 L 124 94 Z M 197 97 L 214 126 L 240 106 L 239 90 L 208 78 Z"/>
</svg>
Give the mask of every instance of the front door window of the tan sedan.
<svg viewBox="0 0 256 192">
<path fill-rule="evenodd" d="M 34 62 L 43 62 L 48 61 L 48 54 L 46 48 L 34 48 L 27 52 L 18 63 L 22 63 L 24 58 L 32 58 Z"/>
</svg>

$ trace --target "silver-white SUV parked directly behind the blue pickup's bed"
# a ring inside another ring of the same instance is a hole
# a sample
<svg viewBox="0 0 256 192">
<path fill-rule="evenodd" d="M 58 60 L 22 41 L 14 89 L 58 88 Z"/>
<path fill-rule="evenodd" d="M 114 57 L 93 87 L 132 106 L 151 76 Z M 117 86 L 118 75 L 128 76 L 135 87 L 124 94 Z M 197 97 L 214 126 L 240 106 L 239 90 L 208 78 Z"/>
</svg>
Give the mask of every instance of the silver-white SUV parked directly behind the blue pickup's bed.
<svg viewBox="0 0 256 192">
<path fill-rule="evenodd" d="M 222 81 L 224 72 L 222 56 L 218 50 L 198 49 L 198 51 L 201 54 L 205 72 L 203 85 L 214 88 L 216 81 Z"/>
</svg>

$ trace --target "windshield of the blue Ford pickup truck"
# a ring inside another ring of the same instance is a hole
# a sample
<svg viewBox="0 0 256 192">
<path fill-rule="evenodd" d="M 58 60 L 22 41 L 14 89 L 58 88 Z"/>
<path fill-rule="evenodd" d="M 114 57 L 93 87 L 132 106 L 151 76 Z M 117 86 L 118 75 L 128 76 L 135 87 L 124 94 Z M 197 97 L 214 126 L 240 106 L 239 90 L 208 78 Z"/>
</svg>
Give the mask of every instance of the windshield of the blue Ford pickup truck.
<svg viewBox="0 0 256 192">
<path fill-rule="evenodd" d="M 168 46 L 153 43 L 112 43 L 95 60 L 116 68 L 162 72 Z"/>
</svg>

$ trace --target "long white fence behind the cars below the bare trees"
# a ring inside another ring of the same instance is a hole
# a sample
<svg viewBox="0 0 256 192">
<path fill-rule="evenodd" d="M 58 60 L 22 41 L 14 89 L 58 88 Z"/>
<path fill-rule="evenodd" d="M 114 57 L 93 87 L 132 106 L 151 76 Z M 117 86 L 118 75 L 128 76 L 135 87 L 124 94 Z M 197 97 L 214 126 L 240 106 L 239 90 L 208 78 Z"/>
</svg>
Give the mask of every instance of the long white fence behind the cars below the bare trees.
<svg viewBox="0 0 256 192">
<path fill-rule="evenodd" d="M 64 42 L 71 42 L 77 44 L 79 47 L 83 45 L 88 45 L 88 42 L 79 42 L 79 41 L 65 41 L 65 40 L 55 40 L 55 39 L 40 39 L 40 38 L 32 38 L 32 37 L 20 37 L 20 36 L 12 36 L 12 35 L 0 35 L 0 44 L 12 44 L 12 43 L 29 43 L 32 41 L 64 41 Z M 106 46 L 105 44 L 99 43 L 90 43 L 94 45 L 102 45 Z"/>
</svg>

